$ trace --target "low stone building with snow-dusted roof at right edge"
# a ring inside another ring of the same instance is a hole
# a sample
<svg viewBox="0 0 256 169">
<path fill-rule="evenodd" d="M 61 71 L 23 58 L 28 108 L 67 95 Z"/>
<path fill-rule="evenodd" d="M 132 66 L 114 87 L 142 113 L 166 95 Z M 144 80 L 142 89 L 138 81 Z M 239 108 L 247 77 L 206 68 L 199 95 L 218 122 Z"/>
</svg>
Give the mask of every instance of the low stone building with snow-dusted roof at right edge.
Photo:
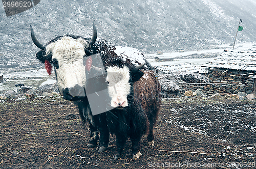
<svg viewBox="0 0 256 169">
<path fill-rule="evenodd" d="M 252 78 L 256 75 L 256 45 L 247 51 L 223 52 L 204 66 L 206 75 L 215 83 L 208 92 L 256 94 L 256 78 Z"/>
</svg>

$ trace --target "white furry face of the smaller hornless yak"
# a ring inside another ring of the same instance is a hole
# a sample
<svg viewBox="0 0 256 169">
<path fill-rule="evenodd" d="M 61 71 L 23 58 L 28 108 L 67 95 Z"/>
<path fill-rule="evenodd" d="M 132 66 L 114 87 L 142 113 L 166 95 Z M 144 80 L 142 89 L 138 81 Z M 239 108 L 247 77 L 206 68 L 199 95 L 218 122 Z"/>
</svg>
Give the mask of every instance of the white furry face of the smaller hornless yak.
<svg viewBox="0 0 256 169">
<path fill-rule="evenodd" d="M 106 69 L 106 80 L 109 81 L 109 95 L 111 97 L 112 107 L 126 107 L 128 105 L 127 95 L 130 94 L 130 70 L 126 66 L 119 68 L 117 66 Z M 120 105 L 118 105 L 120 104 Z"/>
</svg>

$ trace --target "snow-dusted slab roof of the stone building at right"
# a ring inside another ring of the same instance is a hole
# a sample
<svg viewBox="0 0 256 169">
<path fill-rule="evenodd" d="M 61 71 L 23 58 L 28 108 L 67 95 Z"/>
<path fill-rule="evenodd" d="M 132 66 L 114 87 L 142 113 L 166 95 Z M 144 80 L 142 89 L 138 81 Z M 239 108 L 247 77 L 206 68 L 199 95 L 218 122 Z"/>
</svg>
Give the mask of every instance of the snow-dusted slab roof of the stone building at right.
<svg viewBox="0 0 256 169">
<path fill-rule="evenodd" d="M 251 45 L 247 50 L 225 51 L 203 66 L 256 72 L 256 45 Z"/>
</svg>

